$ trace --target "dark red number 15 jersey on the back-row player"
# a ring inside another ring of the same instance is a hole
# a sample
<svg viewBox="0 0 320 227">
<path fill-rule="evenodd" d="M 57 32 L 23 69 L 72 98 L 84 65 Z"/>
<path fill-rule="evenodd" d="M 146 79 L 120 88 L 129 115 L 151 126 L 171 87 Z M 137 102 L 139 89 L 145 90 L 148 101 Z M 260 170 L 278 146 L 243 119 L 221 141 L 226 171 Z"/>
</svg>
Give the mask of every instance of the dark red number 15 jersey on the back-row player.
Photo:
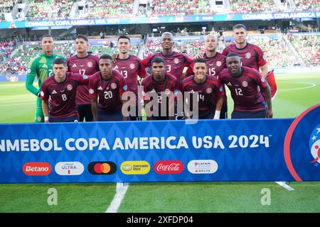
<svg viewBox="0 0 320 227">
<path fill-rule="evenodd" d="M 208 74 L 210 76 L 217 77 L 218 74 L 226 68 L 225 65 L 225 55 L 220 54 L 220 52 L 217 52 L 214 57 L 207 57 L 207 55 L 204 55 L 204 60 L 206 60 L 206 65 L 208 67 Z M 193 65 L 192 62 L 191 65 L 188 67 L 188 70 L 186 71 L 189 75 L 193 75 Z"/>
</svg>

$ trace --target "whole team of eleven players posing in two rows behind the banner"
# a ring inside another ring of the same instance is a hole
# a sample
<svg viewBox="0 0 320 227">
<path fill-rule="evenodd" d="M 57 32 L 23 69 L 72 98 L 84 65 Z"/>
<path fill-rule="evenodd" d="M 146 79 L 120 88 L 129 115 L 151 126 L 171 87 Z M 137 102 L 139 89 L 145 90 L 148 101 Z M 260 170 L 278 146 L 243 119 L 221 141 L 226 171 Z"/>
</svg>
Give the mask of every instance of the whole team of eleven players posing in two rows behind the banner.
<svg viewBox="0 0 320 227">
<path fill-rule="evenodd" d="M 89 54 L 87 38 L 78 35 L 76 55 L 65 60 L 44 35 L 43 53 L 31 60 L 26 76 L 26 89 L 38 96 L 36 122 L 140 121 L 142 103 L 148 120 L 227 118 L 225 86 L 234 101 L 231 118 L 272 118 L 263 52 L 247 43 L 242 24 L 233 27 L 233 38 L 235 44 L 219 53 L 217 36 L 206 35 L 206 52 L 193 60 L 174 52 L 174 36 L 166 32 L 161 52 L 140 60 L 130 55 L 126 35 L 117 40 L 117 54 L 100 57 Z"/>
</svg>

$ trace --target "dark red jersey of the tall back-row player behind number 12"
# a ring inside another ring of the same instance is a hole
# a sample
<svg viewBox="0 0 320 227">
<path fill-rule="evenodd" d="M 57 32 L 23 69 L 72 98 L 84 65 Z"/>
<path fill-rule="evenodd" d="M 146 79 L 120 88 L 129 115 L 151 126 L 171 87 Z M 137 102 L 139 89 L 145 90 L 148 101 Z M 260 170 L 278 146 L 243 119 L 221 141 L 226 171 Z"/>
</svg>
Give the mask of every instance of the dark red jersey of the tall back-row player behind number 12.
<svg viewBox="0 0 320 227">
<path fill-rule="evenodd" d="M 238 49 L 235 44 L 228 45 L 223 50 L 223 55 L 227 56 L 230 52 L 235 52 L 240 56 L 242 66 L 250 67 L 259 72 L 259 67 L 267 64 L 263 51 L 251 43 L 247 43 L 245 48 Z"/>
</svg>

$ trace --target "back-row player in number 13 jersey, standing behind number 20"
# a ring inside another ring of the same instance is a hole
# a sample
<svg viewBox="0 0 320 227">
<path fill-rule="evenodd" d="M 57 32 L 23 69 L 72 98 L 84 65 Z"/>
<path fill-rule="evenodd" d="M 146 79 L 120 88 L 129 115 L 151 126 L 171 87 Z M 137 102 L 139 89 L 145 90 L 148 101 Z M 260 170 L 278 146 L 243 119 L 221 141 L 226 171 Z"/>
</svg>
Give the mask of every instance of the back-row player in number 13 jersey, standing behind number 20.
<svg viewBox="0 0 320 227">
<path fill-rule="evenodd" d="M 138 75 L 141 78 L 146 77 L 146 70 L 139 57 L 129 54 L 131 46 L 130 38 L 128 36 L 119 36 L 117 48 L 119 50 L 119 55 L 117 55 L 117 59 L 114 62 L 114 70 L 117 70 L 122 74 L 126 79 L 128 91 L 133 92 L 136 96 L 135 101 L 130 101 L 130 109 L 131 107 L 136 109 L 135 114 L 130 114 L 130 121 L 141 121 L 142 108 L 138 99 Z"/>
</svg>

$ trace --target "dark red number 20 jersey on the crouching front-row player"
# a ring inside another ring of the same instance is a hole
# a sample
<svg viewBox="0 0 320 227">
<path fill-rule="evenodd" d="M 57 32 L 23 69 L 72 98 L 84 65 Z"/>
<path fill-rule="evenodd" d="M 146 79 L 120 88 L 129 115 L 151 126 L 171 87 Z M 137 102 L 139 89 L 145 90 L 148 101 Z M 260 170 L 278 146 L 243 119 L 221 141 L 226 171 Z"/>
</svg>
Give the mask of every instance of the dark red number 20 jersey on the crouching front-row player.
<svg viewBox="0 0 320 227">
<path fill-rule="evenodd" d="M 116 70 L 112 70 L 112 76 L 106 80 L 100 72 L 90 77 L 89 96 L 94 99 L 98 96 L 97 107 L 101 111 L 113 112 L 122 108 L 122 94 L 127 91 L 126 80 Z"/>
</svg>

